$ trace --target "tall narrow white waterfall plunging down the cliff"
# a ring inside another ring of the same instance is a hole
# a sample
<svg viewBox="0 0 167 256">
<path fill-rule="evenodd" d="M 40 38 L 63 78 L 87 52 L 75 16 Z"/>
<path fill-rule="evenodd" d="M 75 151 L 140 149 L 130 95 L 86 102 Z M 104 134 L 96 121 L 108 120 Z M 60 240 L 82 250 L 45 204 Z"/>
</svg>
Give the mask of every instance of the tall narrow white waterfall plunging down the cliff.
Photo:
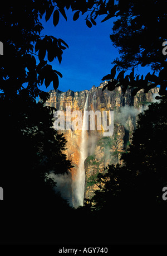
<svg viewBox="0 0 167 256">
<path fill-rule="evenodd" d="M 80 163 L 78 165 L 76 182 L 75 182 L 75 207 L 84 205 L 84 193 L 85 193 L 85 166 L 84 161 L 87 158 L 87 131 L 86 131 L 86 115 L 85 111 L 88 106 L 89 92 L 86 96 L 84 115 L 82 122 L 82 132 L 81 132 L 81 147 L 80 147 Z"/>
</svg>

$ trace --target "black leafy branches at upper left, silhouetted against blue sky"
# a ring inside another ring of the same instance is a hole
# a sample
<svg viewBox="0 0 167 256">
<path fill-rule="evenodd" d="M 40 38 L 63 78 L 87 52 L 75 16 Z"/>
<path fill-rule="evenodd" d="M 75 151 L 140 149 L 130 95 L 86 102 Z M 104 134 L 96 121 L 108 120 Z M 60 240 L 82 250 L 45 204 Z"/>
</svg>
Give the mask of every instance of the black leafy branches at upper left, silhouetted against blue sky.
<svg viewBox="0 0 167 256">
<path fill-rule="evenodd" d="M 58 76 L 62 77 L 62 74 L 53 70 L 47 60 L 52 62 L 57 58 L 61 63 L 63 50 L 68 45 L 54 36 L 41 36 L 43 27 L 40 18 L 45 14 L 45 20 L 48 21 L 56 8 L 53 13 L 53 24 L 56 26 L 56 13 L 60 12 L 66 18 L 66 6 L 68 7 L 68 3 L 46 0 L 23 3 L 9 1 L 4 4 L 3 12 L 0 11 L 3 30 L 1 40 L 4 45 L 4 55 L 0 59 L 2 97 L 15 97 L 15 94 L 27 86 L 27 91 L 33 98 L 40 96 L 45 102 L 48 95 L 40 89 L 44 80 L 46 87 L 53 82 L 53 88 L 57 89 Z"/>
</svg>

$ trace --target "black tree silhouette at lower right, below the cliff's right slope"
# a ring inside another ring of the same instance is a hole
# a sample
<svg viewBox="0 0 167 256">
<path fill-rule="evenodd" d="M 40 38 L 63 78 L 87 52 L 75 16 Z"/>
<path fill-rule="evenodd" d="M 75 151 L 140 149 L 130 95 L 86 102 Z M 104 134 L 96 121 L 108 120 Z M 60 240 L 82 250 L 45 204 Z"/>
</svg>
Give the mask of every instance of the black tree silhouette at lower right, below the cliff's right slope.
<svg viewBox="0 0 167 256">
<path fill-rule="evenodd" d="M 109 165 L 99 173 L 99 190 L 85 207 L 94 215 L 101 230 L 109 230 L 116 243 L 166 243 L 164 219 L 167 183 L 166 101 L 152 103 L 139 115 L 137 129 L 123 165 Z M 105 226 L 105 223 L 106 226 Z"/>
</svg>

